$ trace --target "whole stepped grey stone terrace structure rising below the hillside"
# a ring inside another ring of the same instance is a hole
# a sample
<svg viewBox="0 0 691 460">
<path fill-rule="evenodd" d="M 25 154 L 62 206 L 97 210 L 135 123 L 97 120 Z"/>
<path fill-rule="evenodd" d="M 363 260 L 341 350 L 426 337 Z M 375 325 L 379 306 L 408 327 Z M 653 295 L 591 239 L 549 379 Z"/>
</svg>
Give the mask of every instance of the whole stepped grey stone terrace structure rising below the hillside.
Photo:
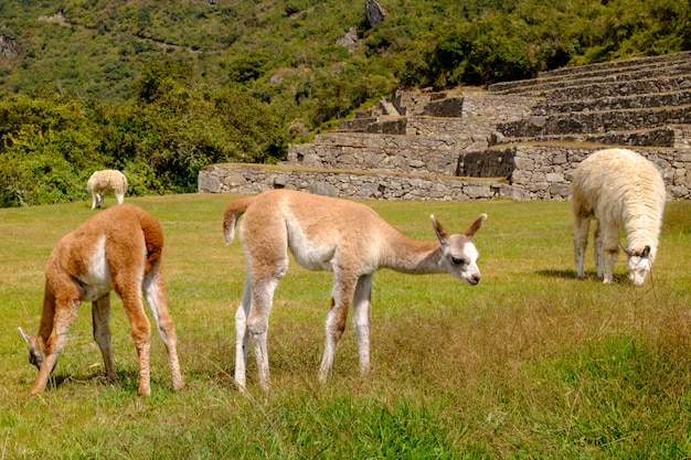
<svg viewBox="0 0 691 460">
<path fill-rule="evenodd" d="M 279 167 L 216 164 L 201 192 L 273 188 L 382 200 L 563 200 L 577 164 L 631 148 L 691 196 L 691 53 L 545 72 L 487 90 L 398 92 Z"/>
</svg>

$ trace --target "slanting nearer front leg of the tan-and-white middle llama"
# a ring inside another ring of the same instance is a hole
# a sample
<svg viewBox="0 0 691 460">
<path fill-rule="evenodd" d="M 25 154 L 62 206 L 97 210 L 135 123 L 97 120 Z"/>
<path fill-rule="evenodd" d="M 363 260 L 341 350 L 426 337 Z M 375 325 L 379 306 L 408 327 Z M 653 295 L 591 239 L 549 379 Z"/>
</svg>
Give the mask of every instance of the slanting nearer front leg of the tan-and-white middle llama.
<svg viewBox="0 0 691 460">
<path fill-rule="evenodd" d="M 346 330 L 346 320 L 348 319 L 348 309 L 352 303 L 358 278 L 344 274 L 338 269 L 333 270 L 333 289 L 331 291 L 331 311 L 327 317 L 326 323 L 326 341 L 323 347 L 323 356 L 321 366 L 319 367 L 319 382 L 326 382 L 331 366 L 333 365 L 333 356 L 336 355 L 336 346 L 338 345 L 343 331 Z"/>
</svg>

